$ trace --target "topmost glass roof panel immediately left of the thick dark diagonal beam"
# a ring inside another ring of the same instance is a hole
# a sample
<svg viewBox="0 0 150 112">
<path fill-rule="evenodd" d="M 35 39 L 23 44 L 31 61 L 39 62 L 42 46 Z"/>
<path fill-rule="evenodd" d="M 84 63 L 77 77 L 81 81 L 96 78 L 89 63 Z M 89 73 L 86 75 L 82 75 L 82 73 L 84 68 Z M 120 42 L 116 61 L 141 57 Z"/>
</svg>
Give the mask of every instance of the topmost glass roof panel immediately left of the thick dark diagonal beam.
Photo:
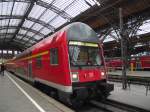
<svg viewBox="0 0 150 112">
<path fill-rule="evenodd" d="M 12 15 L 24 15 L 27 8 L 27 3 L 15 2 Z"/>
</svg>

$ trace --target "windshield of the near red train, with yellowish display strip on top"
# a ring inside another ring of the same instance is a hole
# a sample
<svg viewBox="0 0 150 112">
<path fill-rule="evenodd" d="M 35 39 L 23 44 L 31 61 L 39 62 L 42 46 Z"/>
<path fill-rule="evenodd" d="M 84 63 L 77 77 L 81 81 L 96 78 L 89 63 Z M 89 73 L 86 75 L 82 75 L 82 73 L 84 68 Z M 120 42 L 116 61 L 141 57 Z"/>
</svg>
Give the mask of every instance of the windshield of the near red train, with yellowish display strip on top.
<svg viewBox="0 0 150 112">
<path fill-rule="evenodd" d="M 72 66 L 100 66 L 102 63 L 98 44 L 70 44 L 69 56 Z"/>
</svg>

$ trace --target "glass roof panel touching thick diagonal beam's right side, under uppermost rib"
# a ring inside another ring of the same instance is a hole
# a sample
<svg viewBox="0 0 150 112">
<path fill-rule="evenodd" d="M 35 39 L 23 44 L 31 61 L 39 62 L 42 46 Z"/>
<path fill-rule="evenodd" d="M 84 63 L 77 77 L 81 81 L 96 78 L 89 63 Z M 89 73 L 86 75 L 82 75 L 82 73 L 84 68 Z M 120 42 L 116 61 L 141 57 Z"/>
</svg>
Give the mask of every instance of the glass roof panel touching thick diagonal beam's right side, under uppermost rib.
<svg viewBox="0 0 150 112">
<path fill-rule="evenodd" d="M 45 10 L 46 8 L 44 7 L 41 7 L 39 5 L 34 5 L 33 9 L 31 10 L 30 14 L 29 14 L 29 17 L 33 17 L 33 18 L 36 18 L 38 19 L 39 16 L 43 13 L 43 11 Z"/>
</svg>

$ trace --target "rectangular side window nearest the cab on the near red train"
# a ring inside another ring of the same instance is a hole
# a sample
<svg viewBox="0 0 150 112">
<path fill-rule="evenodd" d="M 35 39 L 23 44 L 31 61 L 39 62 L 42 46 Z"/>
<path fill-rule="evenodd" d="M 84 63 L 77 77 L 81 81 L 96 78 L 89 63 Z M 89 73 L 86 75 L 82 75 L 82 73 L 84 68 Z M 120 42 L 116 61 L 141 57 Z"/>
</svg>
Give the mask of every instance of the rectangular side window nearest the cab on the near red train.
<svg viewBox="0 0 150 112">
<path fill-rule="evenodd" d="M 58 48 L 50 49 L 50 64 L 58 65 Z"/>
</svg>

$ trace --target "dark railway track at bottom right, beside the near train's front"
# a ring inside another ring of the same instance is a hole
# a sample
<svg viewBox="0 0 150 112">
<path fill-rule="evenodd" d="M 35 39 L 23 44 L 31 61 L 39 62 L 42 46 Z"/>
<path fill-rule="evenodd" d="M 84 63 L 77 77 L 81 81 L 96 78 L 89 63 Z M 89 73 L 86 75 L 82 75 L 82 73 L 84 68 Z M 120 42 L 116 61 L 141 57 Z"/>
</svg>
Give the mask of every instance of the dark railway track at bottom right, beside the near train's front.
<svg viewBox="0 0 150 112">
<path fill-rule="evenodd" d="M 150 112 L 149 110 L 122 104 L 112 100 L 106 100 L 103 102 L 93 100 L 88 105 L 90 107 L 87 106 L 87 110 L 82 109 L 77 110 L 77 112 Z"/>
</svg>

